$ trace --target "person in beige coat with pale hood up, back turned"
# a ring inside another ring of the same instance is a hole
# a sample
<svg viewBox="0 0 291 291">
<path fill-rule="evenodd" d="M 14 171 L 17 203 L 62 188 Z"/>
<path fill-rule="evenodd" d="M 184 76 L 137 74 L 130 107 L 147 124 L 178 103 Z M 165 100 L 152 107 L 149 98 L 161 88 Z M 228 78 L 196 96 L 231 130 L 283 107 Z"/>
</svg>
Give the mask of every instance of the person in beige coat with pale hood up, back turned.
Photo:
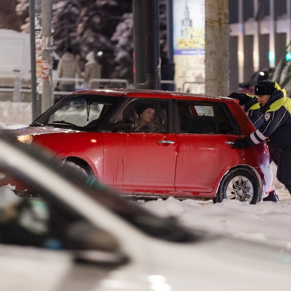
<svg viewBox="0 0 291 291">
<path fill-rule="evenodd" d="M 89 52 L 86 55 L 87 62 L 85 63 L 84 70 L 84 82 L 85 86 L 89 88 L 89 82 L 91 79 L 101 78 L 101 65 L 96 61 L 94 52 Z M 100 88 L 100 82 L 92 82 L 91 88 Z"/>
</svg>

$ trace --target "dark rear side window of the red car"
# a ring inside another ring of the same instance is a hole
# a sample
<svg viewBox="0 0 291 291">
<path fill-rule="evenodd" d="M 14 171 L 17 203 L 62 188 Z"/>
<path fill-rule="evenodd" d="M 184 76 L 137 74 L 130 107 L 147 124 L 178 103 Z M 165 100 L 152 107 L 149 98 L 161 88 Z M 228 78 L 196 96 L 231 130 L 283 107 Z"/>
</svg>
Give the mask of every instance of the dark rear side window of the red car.
<svg viewBox="0 0 291 291">
<path fill-rule="evenodd" d="M 180 132 L 200 134 L 236 133 L 228 118 L 231 114 L 222 102 L 177 101 Z"/>
</svg>

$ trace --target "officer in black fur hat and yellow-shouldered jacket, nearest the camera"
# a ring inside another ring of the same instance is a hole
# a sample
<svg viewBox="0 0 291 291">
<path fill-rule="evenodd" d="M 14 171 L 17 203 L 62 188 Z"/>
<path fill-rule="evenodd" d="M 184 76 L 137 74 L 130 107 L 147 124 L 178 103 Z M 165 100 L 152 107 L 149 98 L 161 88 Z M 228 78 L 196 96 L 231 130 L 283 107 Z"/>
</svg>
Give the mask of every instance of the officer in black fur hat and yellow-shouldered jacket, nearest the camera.
<svg viewBox="0 0 291 291">
<path fill-rule="evenodd" d="M 235 140 L 233 148 L 247 148 L 265 141 L 279 151 L 277 179 L 291 194 L 291 99 L 277 82 L 260 81 L 255 85 L 264 123 L 244 139 Z"/>
</svg>

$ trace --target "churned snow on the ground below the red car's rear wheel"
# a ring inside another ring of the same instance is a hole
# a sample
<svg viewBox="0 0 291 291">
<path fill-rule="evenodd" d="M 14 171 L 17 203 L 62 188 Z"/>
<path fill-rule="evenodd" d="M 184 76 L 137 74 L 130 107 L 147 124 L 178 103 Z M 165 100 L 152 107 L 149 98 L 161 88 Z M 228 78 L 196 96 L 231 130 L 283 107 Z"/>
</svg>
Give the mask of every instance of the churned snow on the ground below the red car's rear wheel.
<svg viewBox="0 0 291 291">
<path fill-rule="evenodd" d="M 213 204 L 211 201 L 180 201 L 170 197 L 148 201 L 142 206 L 163 217 L 176 217 L 189 228 L 291 247 L 291 199 L 253 205 L 238 200 Z"/>
</svg>

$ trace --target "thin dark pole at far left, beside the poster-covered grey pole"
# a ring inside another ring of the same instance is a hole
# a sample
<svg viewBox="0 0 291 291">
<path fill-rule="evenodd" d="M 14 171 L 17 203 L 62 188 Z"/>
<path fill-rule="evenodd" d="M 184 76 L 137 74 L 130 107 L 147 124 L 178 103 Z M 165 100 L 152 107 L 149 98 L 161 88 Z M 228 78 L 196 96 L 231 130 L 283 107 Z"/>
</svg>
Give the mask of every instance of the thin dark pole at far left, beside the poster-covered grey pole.
<svg viewBox="0 0 291 291">
<path fill-rule="evenodd" d="M 32 120 L 37 118 L 36 110 L 36 40 L 35 40 L 35 22 L 34 22 L 34 0 L 29 0 L 29 18 L 30 18 L 30 64 L 31 64 L 31 109 Z"/>
</svg>

